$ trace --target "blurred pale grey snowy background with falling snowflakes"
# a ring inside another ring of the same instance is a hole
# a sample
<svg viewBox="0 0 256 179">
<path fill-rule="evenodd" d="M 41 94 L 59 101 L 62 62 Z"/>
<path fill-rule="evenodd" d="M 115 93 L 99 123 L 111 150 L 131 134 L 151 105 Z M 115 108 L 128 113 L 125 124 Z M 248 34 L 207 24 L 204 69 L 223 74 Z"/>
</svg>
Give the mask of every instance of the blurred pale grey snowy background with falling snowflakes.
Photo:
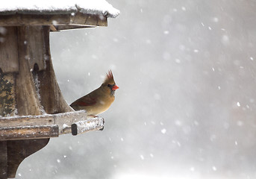
<svg viewBox="0 0 256 179">
<path fill-rule="evenodd" d="M 51 33 L 69 104 L 113 70 L 104 131 L 51 139 L 16 178 L 256 178 L 256 2 L 109 2 L 107 28 Z"/>
</svg>

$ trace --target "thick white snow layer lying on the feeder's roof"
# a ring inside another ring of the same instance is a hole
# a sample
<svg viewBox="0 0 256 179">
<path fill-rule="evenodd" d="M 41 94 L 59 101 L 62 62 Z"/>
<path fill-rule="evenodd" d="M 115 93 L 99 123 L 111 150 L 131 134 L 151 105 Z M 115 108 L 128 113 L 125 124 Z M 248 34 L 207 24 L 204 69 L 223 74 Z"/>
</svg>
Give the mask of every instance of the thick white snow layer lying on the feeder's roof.
<svg viewBox="0 0 256 179">
<path fill-rule="evenodd" d="M 116 17 L 119 10 L 104 0 L 75 0 L 75 1 L 51 1 L 51 0 L 9 0 L 2 1 L 0 14 L 14 13 L 87 13 Z"/>
</svg>

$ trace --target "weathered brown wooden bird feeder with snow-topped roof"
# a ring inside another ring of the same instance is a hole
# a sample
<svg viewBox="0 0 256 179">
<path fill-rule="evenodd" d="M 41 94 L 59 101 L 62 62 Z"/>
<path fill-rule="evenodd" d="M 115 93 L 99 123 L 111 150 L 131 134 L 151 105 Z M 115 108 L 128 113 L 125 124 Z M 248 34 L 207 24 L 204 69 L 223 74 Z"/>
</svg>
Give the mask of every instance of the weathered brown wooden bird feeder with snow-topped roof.
<svg viewBox="0 0 256 179">
<path fill-rule="evenodd" d="M 87 8 L 87 1 L 63 9 L 51 1 L 42 8 L 0 7 L 0 178 L 15 178 L 22 160 L 49 138 L 104 126 L 101 117 L 87 119 L 86 111 L 66 104 L 51 63 L 50 31 L 107 26 L 107 18 L 119 14 L 104 0 L 98 3 L 107 10 Z"/>
</svg>

